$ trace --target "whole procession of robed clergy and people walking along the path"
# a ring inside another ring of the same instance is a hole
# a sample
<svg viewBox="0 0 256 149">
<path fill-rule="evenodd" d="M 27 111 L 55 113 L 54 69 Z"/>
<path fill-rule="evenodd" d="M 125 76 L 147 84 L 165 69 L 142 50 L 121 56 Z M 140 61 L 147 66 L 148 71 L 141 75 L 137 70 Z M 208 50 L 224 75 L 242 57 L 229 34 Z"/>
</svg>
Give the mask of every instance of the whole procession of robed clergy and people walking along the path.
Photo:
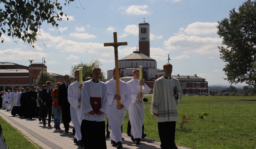
<svg viewBox="0 0 256 149">
<path fill-rule="evenodd" d="M 164 76 L 154 83 L 151 102 L 151 114 L 156 116 L 162 149 L 177 149 L 175 144 L 175 124 L 178 121 L 177 105 L 182 98 L 180 83 L 172 78 L 172 65 L 163 67 Z M 79 81 L 79 70 L 75 70 L 75 82 L 70 83 L 70 76 L 64 76 L 65 82 L 57 82 L 53 89 L 47 81 L 41 88 L 15 88 L 13 92 L 0 92 L 0 108 L 11 110 L 11 115 L 24 118 L 38 118 L 44 127 L 52 127 L 53 117 L 55 130 L 60 130 L 61 121 L 65 133 L 69 133 L 72 121 L 75 135 L 74 143 L 86 149 L 106 149 L 105 137 L 110 137 L 112 146 L 122 148 L 122 124 L 126 111 L 129 113 L 127 135 L 135 144 L 144 138 L 144 103 L 141 99 L 151 89 L 139 78 L 139 69 L 133 70 L 133 79 L 127 83 L 119 80 L 120 93 L 117 92 L 116 73 L 107 82 L 100 80 L 101 69 L 92 69 L 92 78 Z M 120 106 L 118 107 L 118 102 Z M 107 134 L 105 117 L 108 118 Z M 48 119 L 47 119 L 48 118 Z"/>
</svg>

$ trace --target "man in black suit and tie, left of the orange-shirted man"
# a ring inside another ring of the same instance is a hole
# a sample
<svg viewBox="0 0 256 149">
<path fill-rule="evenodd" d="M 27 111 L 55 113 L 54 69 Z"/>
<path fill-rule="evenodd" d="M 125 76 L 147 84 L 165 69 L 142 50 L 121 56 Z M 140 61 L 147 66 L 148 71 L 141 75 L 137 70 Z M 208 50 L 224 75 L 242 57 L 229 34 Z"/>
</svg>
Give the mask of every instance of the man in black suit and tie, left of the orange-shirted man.
<svg viewBox="0 0 256 149">
<path fill-rule="evenodd" d="M 52 127 L 51 126 L 51 120 L 52 120 L 52 97 L 51 97 L 51 93 L 53 88 L 51 87 L 51 82 L 47 81 L 45 83 L 46 88 L 44 88 L 42 90 L 42 94 L 41 94 L 41 98 L 42 98 L 42 103 L 41 103 L 41 107 L 43 108 L 42 110 L 42 120 L 44 123 L 44 126 L 46 125 L 45 123 L 45 117 L 48 111 L 48 127 Z"/>
</svg>

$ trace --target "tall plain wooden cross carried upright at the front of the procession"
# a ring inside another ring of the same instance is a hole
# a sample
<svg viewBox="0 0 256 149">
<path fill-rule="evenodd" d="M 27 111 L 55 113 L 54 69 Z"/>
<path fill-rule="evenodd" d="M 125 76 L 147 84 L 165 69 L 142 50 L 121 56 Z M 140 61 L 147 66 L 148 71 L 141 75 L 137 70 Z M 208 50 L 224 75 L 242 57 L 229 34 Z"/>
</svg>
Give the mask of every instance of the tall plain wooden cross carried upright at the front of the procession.
<svg viewBox="0 0 256 149">
<path fill-rule="evenodd" d="M 118 43 L 117 42 L 117 32 L 113 32 L 114 42 L 104 43 L 104 46 L 113 46 L 115 52 L 115 80 L 117 82 L 117 95 L 120 96 L 120 83 L 119 83 L 119 67 L 118 67 L 118 46 L 127 46 L 127 42 Z M 117 108 L 121 109 L 121 101 L 117 100 Z"/>
</svg>

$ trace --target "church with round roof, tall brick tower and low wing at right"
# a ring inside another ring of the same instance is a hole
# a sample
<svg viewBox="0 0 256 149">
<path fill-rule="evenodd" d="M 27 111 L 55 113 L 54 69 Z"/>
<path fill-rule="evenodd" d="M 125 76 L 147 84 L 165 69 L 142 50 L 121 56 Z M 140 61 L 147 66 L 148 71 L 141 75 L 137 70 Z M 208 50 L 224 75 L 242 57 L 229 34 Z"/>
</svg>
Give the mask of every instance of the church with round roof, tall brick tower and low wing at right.
<svg viewBox="0 0 256 149">
<path fill-rule="evenodd" d="M 121 78 L 128 82 L 133 78 L 133 69 L 143 66 L 143 79 L 151 89 L 154 87 L 154 81 L 164 75 L 162 69 L 157 68 L 156 60 L 150 57 L 150 30 L 149 23 L 141 22 L 139 24 L 139 50 L 118 60 L 121 69 Z M 161 66 L 162 67 L 162 66 Z M 107 71 L 107 79 L 112 79 L 112 70 Z M 206 79 L 197 76 L 172 75 L 180 81 L 183 94 L 188 95 L 209 95 L 208 82 Z"/>
</svg>

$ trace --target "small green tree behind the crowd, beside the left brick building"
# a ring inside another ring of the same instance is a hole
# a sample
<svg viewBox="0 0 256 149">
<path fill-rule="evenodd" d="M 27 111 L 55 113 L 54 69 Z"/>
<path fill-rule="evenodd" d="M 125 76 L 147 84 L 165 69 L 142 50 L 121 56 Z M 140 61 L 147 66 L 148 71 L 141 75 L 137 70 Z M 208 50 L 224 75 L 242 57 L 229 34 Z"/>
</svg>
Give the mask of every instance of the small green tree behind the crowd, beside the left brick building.
<svg viewBox="0 0 256 149">
<path fill-rule="evenodd" d="M 46 81 L 50 81 L 52 83 L 52 88 L 55 88 L 56 79 L 54 74 L 49 74 L 47 71 L 43 71 L 43 83 L 45 84 Z M 36 79 L 36 84 L 39 87 L 42 86 L 42 71 L 39 73 L 39 76 Z"/>
</svg>

